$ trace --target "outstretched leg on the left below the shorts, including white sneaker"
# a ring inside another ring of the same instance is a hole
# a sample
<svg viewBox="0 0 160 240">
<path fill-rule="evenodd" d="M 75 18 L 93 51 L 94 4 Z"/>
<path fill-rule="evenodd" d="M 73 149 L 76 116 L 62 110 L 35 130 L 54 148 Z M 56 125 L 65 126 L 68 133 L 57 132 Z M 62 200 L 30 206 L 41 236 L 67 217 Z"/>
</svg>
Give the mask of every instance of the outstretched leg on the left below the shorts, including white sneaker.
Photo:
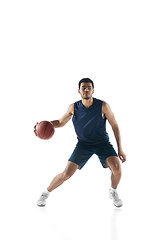
<svg viewBox="0 0 160 240">
<path fill-rule="evenodd" d="M 59 187 L 64 181 L 69 179 L 78 169 L 78 167 L 79 166 L 76 163 L 68 161 L 65 170 L 53 178 L 47 190 L 42 193 L 37 201 L 37 205 L 39 207 L 44 207 L 46 205 L 46 199 L 49 197 L 50 192 Z"/>
</svg>

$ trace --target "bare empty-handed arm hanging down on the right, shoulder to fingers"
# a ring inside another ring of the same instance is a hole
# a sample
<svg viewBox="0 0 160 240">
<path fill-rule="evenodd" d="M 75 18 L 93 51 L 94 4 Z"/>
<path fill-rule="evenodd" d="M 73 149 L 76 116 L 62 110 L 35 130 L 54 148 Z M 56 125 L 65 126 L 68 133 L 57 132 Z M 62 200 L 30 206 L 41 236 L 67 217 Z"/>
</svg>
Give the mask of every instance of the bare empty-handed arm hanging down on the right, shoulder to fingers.
<svg viewBox="0 0 160 240">
<path fill-rule="evenodd" d="M 116 142 L 117 142 L 118 156 L 123 163 L 126 161 L 126 155 L 122 151 L 120 130 L 119 130 L 117 121 L 115 119 L 115 116 L 114 116 L 110 106 L 106 102 L 103 102 L 102 113 L 105 114 L 105 117 L 107 118 L 108 122 L 110 123 L 110 125 L 112 127 L 112 130 L 114 132 L 114 136 L 115 136 Z"/>
</svg>

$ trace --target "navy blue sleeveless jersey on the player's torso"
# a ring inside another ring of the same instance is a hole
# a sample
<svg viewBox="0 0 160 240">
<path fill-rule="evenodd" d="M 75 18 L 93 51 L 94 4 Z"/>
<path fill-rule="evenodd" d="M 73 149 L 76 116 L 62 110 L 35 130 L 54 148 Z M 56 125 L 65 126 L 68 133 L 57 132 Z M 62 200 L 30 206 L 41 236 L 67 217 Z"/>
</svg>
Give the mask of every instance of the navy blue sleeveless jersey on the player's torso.
<svg viewBox="0 0 160 240">
<path fill-rule="evenodd" d="M 106 118 L 102 118 L 103 101 L 93 98 L 93 104 L 85 108 L 82 100 L 74 103 L 72 118 L 77 138 L 89 144 L 99 144 L 109 141 L 106 132 Z"/>
</svg>

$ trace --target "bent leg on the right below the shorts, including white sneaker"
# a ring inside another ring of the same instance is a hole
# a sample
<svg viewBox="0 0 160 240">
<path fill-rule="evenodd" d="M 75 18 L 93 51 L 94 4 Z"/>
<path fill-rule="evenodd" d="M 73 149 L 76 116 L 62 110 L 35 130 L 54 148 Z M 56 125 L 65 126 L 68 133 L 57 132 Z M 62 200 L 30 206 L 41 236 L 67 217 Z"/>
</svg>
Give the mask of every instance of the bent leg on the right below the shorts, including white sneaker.
<svg viewBox="0 0 160 240">
<path fill-rule="evenodd" d="M 116 207 L 121 207 L 123 205 L 122 200 L 118 197 L 117 187 L 121 180 L 121 165 L 118 157 L 111 156 L 105 160 L 105 164 L 110 168 L 111 174 L 111 189 L 109 190 L 109 197 L 113 200 Z"/>
</svg>

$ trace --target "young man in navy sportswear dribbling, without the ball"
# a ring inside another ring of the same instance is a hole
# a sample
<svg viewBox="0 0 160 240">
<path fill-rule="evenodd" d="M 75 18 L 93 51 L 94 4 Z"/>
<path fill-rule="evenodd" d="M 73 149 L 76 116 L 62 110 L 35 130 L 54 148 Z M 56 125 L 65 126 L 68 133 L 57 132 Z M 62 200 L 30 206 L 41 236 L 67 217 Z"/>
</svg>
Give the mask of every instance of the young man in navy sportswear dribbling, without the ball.
<svg viewBox="0 0 160 240">
<path fill-rule="evenodd" d="M 72 118 L 78 143 L 68 160 L 65 170 L 52 180 L 49 187 L 40 196 L 37 205 L 44 207 L 50 192 L 69 179 L 77 169 L 82 169 L 88 159 L 93 154 L 96 154 L 102 166 L 104 168 L 109 167 L 111 170 L 109 197 L 116 207 L 121 207 L 123 203 L 116 190 L 121 179 L 121 165 L 118 156 L 122 163 L 126 161 L 126 156 L 122 151 L 118 124 L 109 105 L 92 97 L 94 93 L 92 80 L 83 78 L 79 82 L 78 93 L 81 95 L 82 100 L 71 104 L 61 119 L 52 121 L 54 127 L 59 128 L 63 127 Z M 109 142 L 109 136 L 106 132 L 106 120 L 109 121 L 113 129 L 118 155 Z"/>
</svg>

